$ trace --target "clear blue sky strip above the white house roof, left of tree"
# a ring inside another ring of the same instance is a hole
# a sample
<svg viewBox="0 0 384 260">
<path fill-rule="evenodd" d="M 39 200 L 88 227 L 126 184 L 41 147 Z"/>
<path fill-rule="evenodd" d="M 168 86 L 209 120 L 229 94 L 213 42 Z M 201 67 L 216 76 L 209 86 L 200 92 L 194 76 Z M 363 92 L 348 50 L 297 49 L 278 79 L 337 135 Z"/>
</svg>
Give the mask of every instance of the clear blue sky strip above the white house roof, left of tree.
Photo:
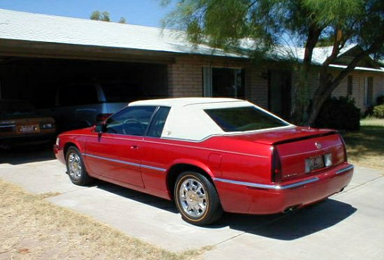
<svg viewBox="0 0 384 260">
<path fill-rule="evenodd" d="M 161 19 L 172 10 L 161 0 L 0 0 L 0 8 L 89 19 L 94 10 L 108 11 L 112 22 L 125 17 L 128 24 L 161 27 Z"/>
</svg>

